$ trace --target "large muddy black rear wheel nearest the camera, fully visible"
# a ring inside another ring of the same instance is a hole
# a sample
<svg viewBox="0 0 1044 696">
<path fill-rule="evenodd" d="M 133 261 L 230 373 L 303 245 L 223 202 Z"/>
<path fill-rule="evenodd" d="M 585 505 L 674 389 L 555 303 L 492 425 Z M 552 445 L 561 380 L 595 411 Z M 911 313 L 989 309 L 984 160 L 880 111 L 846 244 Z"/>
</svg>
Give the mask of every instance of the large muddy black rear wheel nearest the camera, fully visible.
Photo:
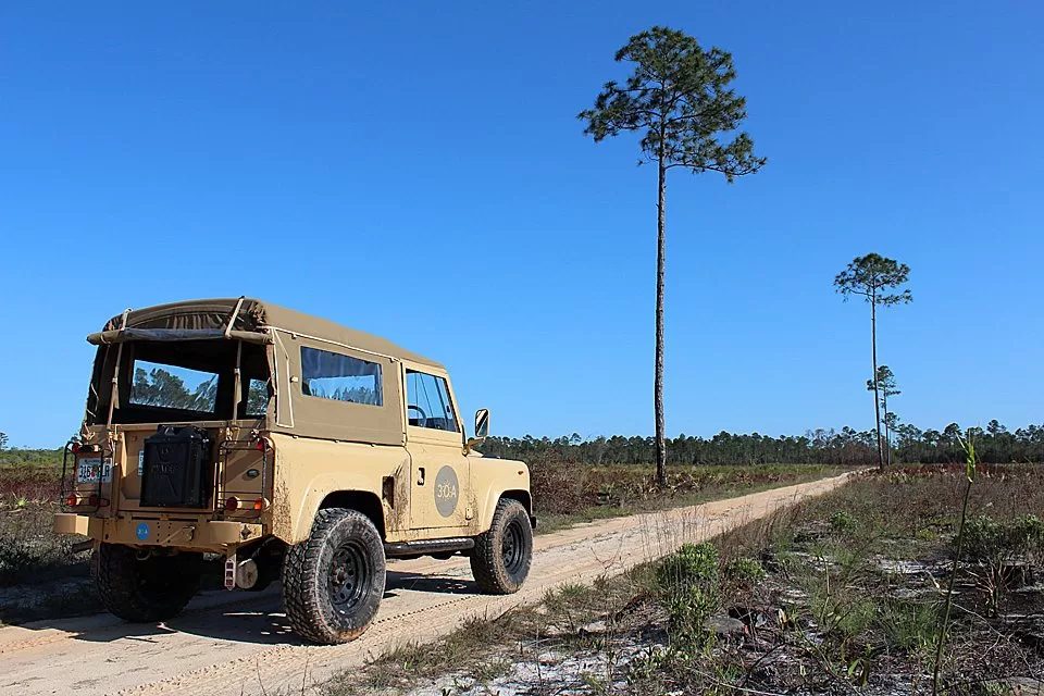
<svg viewBox="0 0 1044 696">
<path fill-rule="evenodd" d="M 359 637 L 384 596 L 384 542 L 366 515 L 320 510 L 308 540 L 283 559 L 283 605 L 301 637 L 334 645 Z"/>
</svg>

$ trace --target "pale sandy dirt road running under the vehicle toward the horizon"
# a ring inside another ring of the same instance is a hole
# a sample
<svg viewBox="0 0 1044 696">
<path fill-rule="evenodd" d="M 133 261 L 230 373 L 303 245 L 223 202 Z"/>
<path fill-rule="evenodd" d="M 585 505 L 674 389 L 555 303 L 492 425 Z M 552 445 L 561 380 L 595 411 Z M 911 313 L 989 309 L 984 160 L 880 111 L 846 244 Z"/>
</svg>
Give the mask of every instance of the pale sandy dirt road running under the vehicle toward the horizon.
<svg viewBox="0 0 1044 696">
<path fill-rule="evenodd" d="M 348 645 L 303 645 L 282 614 L 278 587 L 207 593 L 167 624 L 109 614 L 0 629 L 0 694 L 300 693 L 401 642 L 430 639 L 474 616 L 538 600 L 563 582 L 593 581 L 824 493 L 845 476 L 671 512 L 619 518 L 536 537 L 533 570 L 510 597 L 475 594 L 467 559 L 388 563 L 377 620 Z"/>
</svg>

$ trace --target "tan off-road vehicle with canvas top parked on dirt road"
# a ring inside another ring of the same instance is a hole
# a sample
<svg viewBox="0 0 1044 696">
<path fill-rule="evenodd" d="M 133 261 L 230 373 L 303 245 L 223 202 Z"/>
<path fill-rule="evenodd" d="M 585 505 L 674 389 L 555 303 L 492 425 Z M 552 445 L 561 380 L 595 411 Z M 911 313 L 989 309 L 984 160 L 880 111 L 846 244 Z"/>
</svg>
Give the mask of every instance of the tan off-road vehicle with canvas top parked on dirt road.
<svg viewBox="0 0 1044 696">
<path fill-rule="evenodd" d="M 463 555 L 482 592 L 530 571 L 533 502 L 519 461 L 467 438 L 443 365 L 333 322 L 253 299 L 127 311 L 98 346 L 57 532 L 94 542 L 105 606 L 170 619 L 204 554 L 225 586 L 283 582 L 315 643 L 365 631 L 385 559 Z"/>
</svg>

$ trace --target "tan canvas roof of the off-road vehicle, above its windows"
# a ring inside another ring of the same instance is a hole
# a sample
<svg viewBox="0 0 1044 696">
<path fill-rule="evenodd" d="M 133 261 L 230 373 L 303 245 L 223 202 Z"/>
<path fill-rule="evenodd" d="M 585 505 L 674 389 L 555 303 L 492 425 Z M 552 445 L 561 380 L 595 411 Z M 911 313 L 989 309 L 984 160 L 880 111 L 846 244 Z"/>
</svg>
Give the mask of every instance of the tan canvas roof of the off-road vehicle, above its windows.
<svg viewBox="0 0 1044 696">
<path fill-rule="evenodd" d="M 232 331 L 256 333 L 264 327 L 282 328 L 290 333 L 333 340 L 390 358 L 410 360 L 439 370 L 444 369 L 442 364 L 434 360 L 400 348 L 390 340 L 348 328 L 325 319 L 262 302 L 258 299 L 243 298 L 241 304 L 239 302 L 239 298 L 221 298 L 157 304 L 132 311 L 127 314 L 126 326 L 123 325 L 123 314 L 113 316 L 105 324 L 103 331 L 111 332 L 120 328 L 222 331 L 228 328 L 228 320 L 238 304 L 239 312 L 236 315 L 235 323 L 231 326 Z"/>
</svg>

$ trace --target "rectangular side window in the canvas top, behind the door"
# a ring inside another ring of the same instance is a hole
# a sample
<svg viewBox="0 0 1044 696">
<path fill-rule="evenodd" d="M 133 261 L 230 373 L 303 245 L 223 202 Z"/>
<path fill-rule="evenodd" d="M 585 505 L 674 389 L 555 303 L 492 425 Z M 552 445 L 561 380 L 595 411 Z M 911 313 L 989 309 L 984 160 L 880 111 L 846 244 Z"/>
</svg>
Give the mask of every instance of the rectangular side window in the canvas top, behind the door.
<svg viewBox="0 0 1044 696">
<path fill-rule="evenodd" d="M 301 347 L 301 391 L 321 399 L 384 406 L 381 365 L 306 346 Z"/>
</svg>

